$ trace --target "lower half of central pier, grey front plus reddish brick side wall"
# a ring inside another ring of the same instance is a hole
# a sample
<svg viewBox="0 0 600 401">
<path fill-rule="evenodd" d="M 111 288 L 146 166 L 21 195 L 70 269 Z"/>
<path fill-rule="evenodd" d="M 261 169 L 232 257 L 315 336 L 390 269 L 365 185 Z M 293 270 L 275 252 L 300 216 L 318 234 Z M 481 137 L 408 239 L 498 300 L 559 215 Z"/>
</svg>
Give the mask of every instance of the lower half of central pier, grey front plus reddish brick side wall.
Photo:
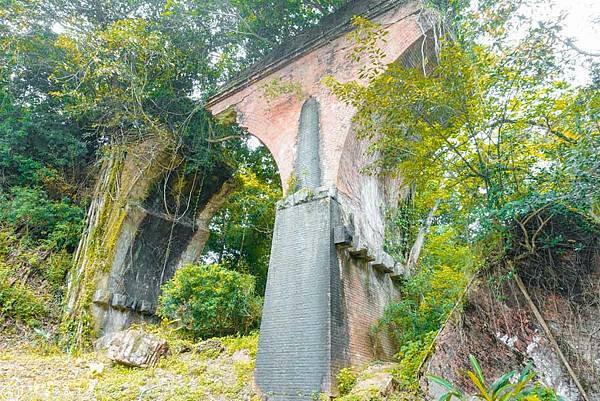
<svg viewBox="0 0 600 401">
<path fill-rule="evenodd" d="M 304 188 L 278 204 L 255 374 L 268 401 L 335 395 L 340 369 L 393 358 L 371 328 L 397 293 L 359 251 L 340 196 Z"/>
</svg>

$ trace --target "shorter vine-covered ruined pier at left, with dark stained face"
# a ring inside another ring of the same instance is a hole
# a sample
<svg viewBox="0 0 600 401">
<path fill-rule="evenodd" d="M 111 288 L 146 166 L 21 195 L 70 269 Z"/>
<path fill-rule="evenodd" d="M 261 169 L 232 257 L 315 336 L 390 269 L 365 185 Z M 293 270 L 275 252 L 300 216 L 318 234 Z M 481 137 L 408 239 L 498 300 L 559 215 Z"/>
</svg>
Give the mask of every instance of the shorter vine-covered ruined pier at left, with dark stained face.
<svg viewBox="0 0 600 401">
<path fill-rule="evenodd" d="M 101 337 L 156 320 L 161 285 L 202 254 L 233 171 L 186 173 L 171 149 L 147 138 L 113 149 L 101 166 L 68 280 L 64 321 L 77 325 L 68 328 L 76 341 L 86 322 Z"/>
</svg>

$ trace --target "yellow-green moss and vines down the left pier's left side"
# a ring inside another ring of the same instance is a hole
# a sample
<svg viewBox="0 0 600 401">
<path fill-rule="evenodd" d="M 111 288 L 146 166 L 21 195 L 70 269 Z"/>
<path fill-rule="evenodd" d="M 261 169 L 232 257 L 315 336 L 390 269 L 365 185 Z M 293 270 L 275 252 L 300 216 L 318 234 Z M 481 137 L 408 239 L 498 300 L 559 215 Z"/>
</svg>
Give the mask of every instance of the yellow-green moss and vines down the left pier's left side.
<svg viewBox="0 0 600 401">
<path fill-rule="evenodd" d="M 157 146 L 158 144 L 158 146 Z M 171 141 L 149 138 L 142 143 L 105 149 L 105 167 L 96 187 L 93 205 L 99 207 L 88 222 L 80 251 L 69 275 L 72 305 L 65 311 L 61 324 L 61 343 L 66 349 L 89 347 L 95 327 L 90 307 L 97 283 L 110 271 L 127 218 L 126 205 L 143 201 L 152 185 L 163 176 L 173 157 Z M 141 179 L 143 177 L 143 179 Z"/>
</svg>

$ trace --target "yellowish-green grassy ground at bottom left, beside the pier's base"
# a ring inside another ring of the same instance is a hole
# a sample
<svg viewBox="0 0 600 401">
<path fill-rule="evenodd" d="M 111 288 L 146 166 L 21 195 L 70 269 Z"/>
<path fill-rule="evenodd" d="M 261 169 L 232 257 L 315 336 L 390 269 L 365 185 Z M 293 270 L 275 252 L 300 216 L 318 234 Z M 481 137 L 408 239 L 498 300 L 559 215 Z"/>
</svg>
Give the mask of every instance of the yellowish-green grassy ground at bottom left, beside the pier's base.
<svg viewBox="0 0 600 401">
<path fill-rule="evenodd" d="M 252 389 L 257 340 L 257 335 L 225 338 L 226 351 L 219 356 L 171 354 L 148 369 L 113 365 L 96 353 L 0 351 L 0 400 L 257 401 Z"/>
</svg>

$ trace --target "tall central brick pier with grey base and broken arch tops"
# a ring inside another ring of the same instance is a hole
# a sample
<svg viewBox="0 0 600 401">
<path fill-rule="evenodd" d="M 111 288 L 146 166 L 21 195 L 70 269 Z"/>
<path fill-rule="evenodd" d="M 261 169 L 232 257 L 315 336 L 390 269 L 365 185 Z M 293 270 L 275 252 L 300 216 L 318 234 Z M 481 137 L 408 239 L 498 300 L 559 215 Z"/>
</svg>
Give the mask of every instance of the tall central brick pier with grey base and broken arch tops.
<svg viewBox="0 0 600 401">
<path fill-rule="evenodd" d="M 269 401 L 334 395 L 341 368 L 393 357 L 390 339 L 373 338 L 371 327 L 403 274 L 384 251 L 385 208 L 397 205 L 401 183 L 361 173 L 372 160 L 353 129 L 355 110 L 323 84 L 355 80 L 369 66 L 349 57 L 354 15 L 388 31 L 386 64 L 420 65 L 431 46 L 419 2 L 350 2 L 208 104 L 268 147 L 287 195 L 277 209 L 255 373 Z"/>
</svg>

